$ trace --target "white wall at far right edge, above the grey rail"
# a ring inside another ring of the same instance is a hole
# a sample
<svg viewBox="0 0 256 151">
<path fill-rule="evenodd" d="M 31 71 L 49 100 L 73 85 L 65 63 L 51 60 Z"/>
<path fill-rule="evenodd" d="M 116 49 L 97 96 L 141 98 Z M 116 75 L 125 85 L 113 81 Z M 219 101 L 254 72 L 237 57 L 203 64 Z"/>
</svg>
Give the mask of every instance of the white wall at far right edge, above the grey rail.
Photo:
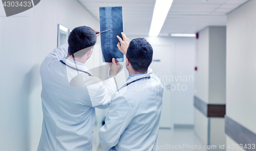
<svg viewBox="0 0 256 151">
<path fill-rule="evenodd" d="M 256 133 L 256 1 L 227 15 L 226 115 Z"/>
</svg>

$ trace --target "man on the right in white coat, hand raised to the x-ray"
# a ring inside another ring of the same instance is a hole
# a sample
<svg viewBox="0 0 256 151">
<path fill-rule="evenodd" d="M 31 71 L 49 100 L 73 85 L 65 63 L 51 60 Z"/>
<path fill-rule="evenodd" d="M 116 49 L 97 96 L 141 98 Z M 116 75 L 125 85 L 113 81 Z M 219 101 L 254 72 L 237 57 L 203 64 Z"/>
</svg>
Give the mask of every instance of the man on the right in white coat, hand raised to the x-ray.
<svg viewBox="0 0 256 151">
<path fill-rule="evenodd" d="M 118 36 L 118 49 L 126 55 L 129 78 L 114 95 L 105 124 L 99 131 L 100 144 L 108 150 L 157 150 L 163 87 L 149 68 L 153 48 L 144 38 Z M 126 53 L 127 52 L 127 53 Z"/>
</svg>

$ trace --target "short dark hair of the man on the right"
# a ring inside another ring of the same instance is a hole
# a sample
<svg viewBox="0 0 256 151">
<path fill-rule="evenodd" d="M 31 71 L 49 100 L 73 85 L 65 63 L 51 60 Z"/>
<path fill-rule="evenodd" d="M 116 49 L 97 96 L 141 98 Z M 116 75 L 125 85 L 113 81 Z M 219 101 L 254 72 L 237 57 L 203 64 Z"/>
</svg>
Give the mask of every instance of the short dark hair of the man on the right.
<svg viewBox="0 0 256 151">
<path fill-rule="evenodd" d="M 153 48 L 145 38 L 135 38 L 127 48 L 126 58 L 135 71 L 145 72 L 152 62 Z"/>
</svg>

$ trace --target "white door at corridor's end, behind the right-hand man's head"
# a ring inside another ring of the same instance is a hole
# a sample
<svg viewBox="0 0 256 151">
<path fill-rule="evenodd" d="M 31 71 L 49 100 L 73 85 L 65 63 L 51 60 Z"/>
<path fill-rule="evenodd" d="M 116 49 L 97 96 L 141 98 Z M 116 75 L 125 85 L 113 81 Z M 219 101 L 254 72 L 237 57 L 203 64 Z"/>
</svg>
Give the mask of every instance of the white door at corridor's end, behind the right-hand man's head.
<svg viewBox="0 0 256 151">
<path fill-rule="evenodd" d="M 163 104 L 160 119 L 160 128 L 174 128 L 174 92 L 171 89 L 173 84 L 170 78 L 174 75 L 174 46 L 173 45 L 152 45 L 153 61 L 150 67 L 161 80 L 164 87 Z"/>
</svg>

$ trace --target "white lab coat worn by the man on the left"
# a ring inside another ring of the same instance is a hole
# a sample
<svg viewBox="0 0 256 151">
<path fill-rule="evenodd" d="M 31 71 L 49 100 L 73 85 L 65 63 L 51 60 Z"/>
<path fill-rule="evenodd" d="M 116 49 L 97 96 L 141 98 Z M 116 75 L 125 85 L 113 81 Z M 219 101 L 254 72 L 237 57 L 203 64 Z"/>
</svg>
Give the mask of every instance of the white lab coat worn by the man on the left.
<svg viewBox="0 0 256 151">
<path fill-rule="evenodd" d="M 44 118 L 37 151 L 92 150 L 95 107 L 108 108 L 116 91 L 114 78 L 87 86 L 88 81 L 100 80 L 82 72 L 79 75 L 82 75 L 83 86 L 72 87 L 70 82 L 78 74 L 77 70 L 60 62 L 75 67 L 67 54 L 66 43 L 54 49 L 40 67 Z M 76 64 L 80 70 L 88 70 L 83 63 Z"/>
</svg>

